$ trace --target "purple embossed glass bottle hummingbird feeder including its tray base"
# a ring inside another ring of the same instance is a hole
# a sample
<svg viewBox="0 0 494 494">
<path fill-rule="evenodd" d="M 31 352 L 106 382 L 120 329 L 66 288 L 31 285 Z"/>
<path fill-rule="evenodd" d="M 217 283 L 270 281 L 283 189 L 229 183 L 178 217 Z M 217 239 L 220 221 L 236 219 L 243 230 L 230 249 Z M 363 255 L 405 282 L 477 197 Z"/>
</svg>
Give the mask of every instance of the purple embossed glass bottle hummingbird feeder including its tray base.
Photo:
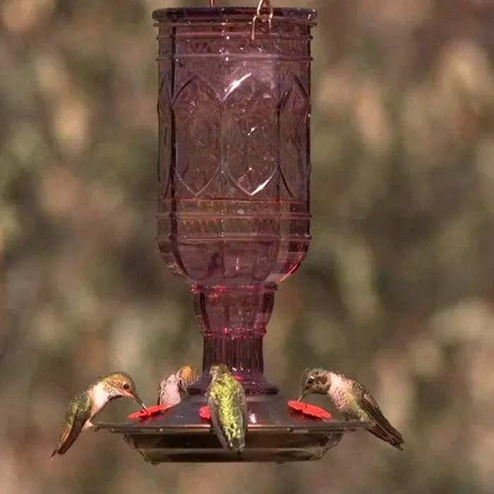
<svg viewBox="0 0 494 494">
<path fill-rule="evenodd" d="M 159 29 L 159 211 L 164 262 L 193 294 L 203 375 L 163 414 L 97 428 L 122 434 L 146 461 L 320 459 L 359 421 L 289 409 L 263 375 L 263 337 L 277 284 L 310 236 L 308 8 L 164 8 Z M 224 450 L 204 414 L 208 370 L 226 363 L 244 386 L 241 454 Z"/>
</svg>

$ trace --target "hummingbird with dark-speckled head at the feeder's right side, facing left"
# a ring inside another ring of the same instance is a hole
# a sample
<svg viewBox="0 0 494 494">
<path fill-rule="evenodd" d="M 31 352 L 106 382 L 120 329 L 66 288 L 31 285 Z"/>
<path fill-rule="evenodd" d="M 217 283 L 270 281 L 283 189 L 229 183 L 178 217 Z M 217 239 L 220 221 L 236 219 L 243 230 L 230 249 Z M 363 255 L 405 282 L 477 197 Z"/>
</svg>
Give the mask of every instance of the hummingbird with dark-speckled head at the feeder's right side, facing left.
<svg viewBox="0 0 494 494">
<path fill-rule="evenodd" d="M 376 438 L 403 450 L 402 435 L 387 421 L 378 402 L 360 382 L 329 370 L 307 368 L 302 373 L 299 400 L 312 393 L 327 394 L 346 420 L 364 421 Z"/>
</svg>

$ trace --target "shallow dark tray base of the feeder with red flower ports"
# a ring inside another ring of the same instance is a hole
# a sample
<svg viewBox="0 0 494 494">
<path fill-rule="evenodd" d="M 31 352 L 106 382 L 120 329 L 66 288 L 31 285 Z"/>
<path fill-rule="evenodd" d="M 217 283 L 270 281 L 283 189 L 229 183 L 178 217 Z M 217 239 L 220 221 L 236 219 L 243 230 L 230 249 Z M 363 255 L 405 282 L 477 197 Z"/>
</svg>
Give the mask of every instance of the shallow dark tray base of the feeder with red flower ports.
<svg viewBox="0 0 494 494">
<path fill-rule="evenodd" d="M 278 394 L 247 397 L 246 447 L 224 450 L 209 421 L 199 416 L 205 397 L 192 396 L 163 414 L 123 423 L 96 423 L 95 429 L 122 434 L 146 462 L 301 462 L 316 460 L 335 447 L 361 421 L 309 418 L 287 406 Z"/>
</svg>

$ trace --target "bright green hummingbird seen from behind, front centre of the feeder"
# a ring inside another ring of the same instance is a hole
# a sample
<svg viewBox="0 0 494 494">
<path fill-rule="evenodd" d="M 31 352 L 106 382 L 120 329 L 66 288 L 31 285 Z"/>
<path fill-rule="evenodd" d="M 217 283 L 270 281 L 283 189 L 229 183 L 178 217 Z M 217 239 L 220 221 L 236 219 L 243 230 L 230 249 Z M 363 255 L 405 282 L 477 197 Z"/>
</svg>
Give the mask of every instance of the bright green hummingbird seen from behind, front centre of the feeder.
<svg viewBox="0 0 494 494">
<path fill-rule="evenodd" d="M 211 366 L 210 380 L 206 395 L 212 428 L 224 448 L 240 453 L 246 445 L 246 394 L 222 363 Z"/>
</svg>

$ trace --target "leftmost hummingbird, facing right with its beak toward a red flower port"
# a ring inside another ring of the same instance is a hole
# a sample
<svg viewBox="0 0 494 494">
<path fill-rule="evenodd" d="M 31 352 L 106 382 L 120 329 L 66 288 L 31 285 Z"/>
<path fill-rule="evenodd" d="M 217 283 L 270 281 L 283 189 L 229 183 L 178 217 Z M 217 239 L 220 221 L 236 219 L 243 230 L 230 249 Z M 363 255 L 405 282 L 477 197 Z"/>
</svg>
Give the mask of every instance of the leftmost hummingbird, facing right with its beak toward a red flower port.
<svg viewBox="0 0 494 494">
<path fill-rule="evenodd" d="M 123 397 L 131 398 L 143 409 L 146 408 L 138 397 L 133 379 L 125 372 L 114 372 L 96 378 L 88 389 L 76 394 L 68 404 L 52 460 L 56 454 L 65 454 L 83 430 L 92 428 L 92 418 L 109 401 Z"/>
</svg>

